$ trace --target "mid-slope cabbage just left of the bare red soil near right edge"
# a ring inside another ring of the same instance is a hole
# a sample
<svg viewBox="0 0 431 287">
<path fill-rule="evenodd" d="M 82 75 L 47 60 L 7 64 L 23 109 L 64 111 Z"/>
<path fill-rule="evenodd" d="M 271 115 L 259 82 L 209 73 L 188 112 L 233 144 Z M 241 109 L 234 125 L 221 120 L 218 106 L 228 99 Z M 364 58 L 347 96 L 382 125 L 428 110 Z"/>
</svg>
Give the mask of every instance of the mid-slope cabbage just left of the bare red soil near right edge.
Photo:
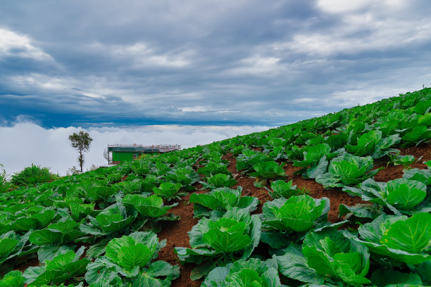
<svg viewBox="0 0 431 287">
<path fill-rule="evenodd" d="M 382 168 L 372 170 L 373 158 L 370 155 L 361 158 L 345 153 L 331 160 L 328 172 L 320 174 L 316 177 L 316 181 L 323 184 L 325 188 L 358 184 L 370 177 L 374 177 Z"/>
</svg>

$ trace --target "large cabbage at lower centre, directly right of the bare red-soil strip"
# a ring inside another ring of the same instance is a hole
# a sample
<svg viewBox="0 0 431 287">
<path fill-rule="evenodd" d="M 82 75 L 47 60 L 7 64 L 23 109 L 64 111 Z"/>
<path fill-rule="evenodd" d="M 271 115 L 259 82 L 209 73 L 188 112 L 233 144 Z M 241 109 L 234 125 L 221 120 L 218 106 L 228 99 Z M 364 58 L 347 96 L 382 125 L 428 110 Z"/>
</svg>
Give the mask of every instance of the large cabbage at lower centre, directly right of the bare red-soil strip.
<svg viewBox="0 0 431 287">
<path fill-rule="evenodd" d="M 206 276 L 215 266 L 250 257 L 261 238 L 261 219 L 249 210 L 232 208 L 223 217 L 202 218 L 189 231 L 192 248 L 175 247 L 180 262 L 192 262 L 192 280 Z"/>
</svg>

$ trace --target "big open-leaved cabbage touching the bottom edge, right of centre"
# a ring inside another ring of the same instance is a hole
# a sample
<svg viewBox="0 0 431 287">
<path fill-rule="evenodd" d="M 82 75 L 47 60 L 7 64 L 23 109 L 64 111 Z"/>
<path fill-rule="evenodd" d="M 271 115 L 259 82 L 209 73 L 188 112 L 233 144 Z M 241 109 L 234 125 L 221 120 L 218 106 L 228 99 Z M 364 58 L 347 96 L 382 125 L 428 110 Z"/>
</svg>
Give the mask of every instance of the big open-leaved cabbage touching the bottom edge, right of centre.
<svg viewBox="0 0 431 287">
<path fill-rule="evenodd" d="M 277 256 L 279 271 L 304 283 L 323 286 L 325 281 L 337 286 L 360 286 L 370 283 L 366 278 L 370 267 L 368 248 L 341 231 L 326 228 L 311 232 L 301 250 L 294 245 Z"/>
</svg>

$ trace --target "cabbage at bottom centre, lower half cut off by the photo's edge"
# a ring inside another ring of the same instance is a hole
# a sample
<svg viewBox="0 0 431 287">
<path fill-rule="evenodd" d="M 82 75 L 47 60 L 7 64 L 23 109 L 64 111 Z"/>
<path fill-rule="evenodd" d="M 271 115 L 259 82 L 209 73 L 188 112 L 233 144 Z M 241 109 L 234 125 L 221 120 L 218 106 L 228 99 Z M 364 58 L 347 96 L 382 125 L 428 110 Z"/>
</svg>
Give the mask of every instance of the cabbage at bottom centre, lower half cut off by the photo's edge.
<svg viewBox="0 0 431 287">
<path fill-rule="evenodd" d="M 266 261 L 251 258 L 237 260 L 225 267 L 215 267 L 206 277 L 201 287 L 280 287 L 277 260 L 275 257 Z"/>
</svg>

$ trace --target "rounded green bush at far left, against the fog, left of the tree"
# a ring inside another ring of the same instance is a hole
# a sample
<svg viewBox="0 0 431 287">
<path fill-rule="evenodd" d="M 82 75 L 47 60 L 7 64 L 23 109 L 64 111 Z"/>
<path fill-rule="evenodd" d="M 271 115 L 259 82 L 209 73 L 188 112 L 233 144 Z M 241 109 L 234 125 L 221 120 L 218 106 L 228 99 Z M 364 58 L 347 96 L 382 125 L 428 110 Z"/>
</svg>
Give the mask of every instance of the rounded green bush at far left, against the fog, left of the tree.
<svg viewBox="0 0 431 287">
<path fill-rule="evenodd" d="M 25 167 L 21 172 L 16 172 L 12 175 L 11 184 L 16 186 L 29 186 L 42 184 L 44 182 L 58 179 L 57 174 L 51 174 L 49 167 L 41 167 L 40 165 L 31 165 Z"/>
</svg>

